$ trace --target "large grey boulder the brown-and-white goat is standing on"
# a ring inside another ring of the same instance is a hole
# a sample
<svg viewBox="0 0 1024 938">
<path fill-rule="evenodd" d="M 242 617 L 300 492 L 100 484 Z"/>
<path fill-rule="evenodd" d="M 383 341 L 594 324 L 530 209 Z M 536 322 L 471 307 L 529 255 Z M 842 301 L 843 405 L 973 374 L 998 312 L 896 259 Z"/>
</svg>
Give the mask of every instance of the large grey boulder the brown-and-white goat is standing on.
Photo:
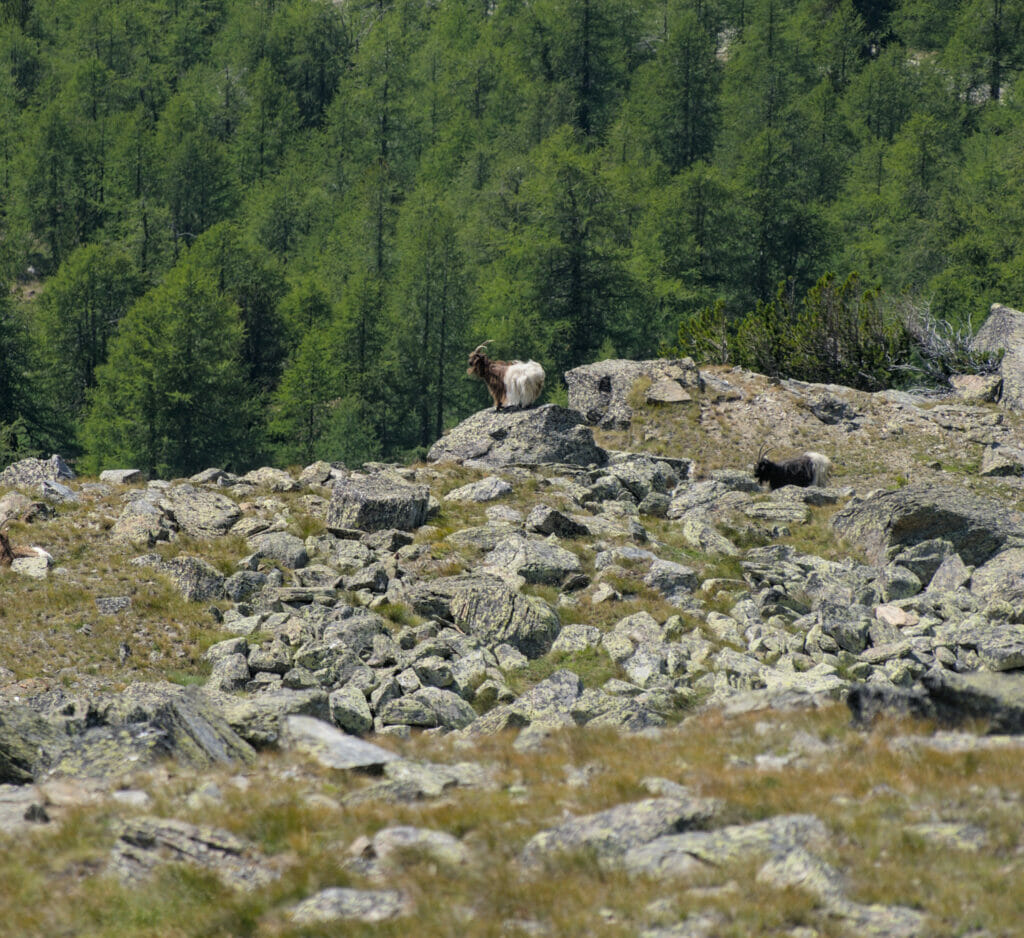
<svg viewBox="0 0 1024 938">
<path fill-rule="evenodd" d="M 474 466 L 604 465 L 607 454 L 594 442 L 575 411 L 554 403 L 525 411 L 479 411 L 430 447 L 430 462 Z"/>
</svg>

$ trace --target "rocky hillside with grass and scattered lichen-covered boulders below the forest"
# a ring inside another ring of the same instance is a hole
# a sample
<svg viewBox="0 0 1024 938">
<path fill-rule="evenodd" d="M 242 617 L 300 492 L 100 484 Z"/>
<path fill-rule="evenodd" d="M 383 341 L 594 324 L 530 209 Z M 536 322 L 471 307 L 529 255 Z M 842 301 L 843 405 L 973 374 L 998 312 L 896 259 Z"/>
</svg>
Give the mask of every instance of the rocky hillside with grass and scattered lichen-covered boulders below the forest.
<svg viewBox="0 0 1024 938">
<path fill-rule="evenodd" d="M 423 465 L 0 474 L 5 934 L 1019 934 L 998 379 L 566 380 Z"/>
</svg>

